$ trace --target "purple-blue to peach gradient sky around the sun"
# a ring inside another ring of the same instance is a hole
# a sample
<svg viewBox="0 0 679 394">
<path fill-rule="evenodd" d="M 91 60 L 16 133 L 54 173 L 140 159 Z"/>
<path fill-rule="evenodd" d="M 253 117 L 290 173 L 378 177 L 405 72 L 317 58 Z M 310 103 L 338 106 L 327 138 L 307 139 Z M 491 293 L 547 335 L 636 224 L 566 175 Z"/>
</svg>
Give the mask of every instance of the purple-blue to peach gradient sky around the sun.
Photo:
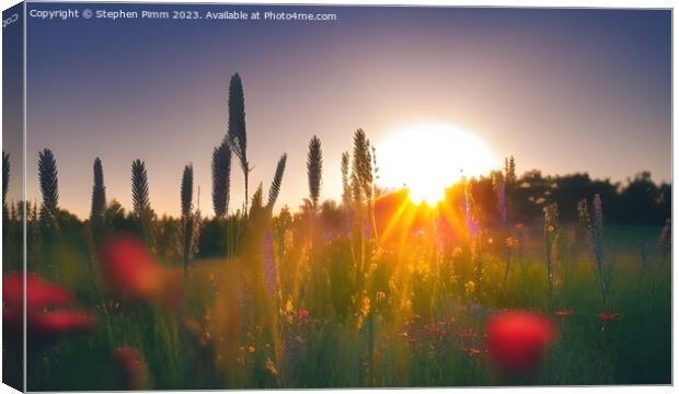
<svg viewBox="0 0 679 394">
<path fill-rule="evenodd" d="M 30 3 L 28 9 L 84 9 Z M 92 162 L 126 208 L 130 164 L 147 163 L 159 213 L 180 211 L 193 162 L 212 215 L 210 159 L 228 86 L 245 92 L 252 192 L 288 153 L 278 207 L 307 195 L 307 144 L 323 144 L 322 198 L 341 194 L 340 158 L 362 127 L 378 150 L 404 124 L 449 123 L 517 169 L 671 178 L 669 11 L 111 4 L 93 9 L 306 10 L 335 22 L 39 21 L 27 33 L 27 197 L 54 150 L 60 205 L 89 212 Z M 407 154 L 407 152 L 404 152 Z M 378 163 L 379 164 L 379 163 Z M 230 209 L 243 201 L 235 162 Z"/>
</svg>

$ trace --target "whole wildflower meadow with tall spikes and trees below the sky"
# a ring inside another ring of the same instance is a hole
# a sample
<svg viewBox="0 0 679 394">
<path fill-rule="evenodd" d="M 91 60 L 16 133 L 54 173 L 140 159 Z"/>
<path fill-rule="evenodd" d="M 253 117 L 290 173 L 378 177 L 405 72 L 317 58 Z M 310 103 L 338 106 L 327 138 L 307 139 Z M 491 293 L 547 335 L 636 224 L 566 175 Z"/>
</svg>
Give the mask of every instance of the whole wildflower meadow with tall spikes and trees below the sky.
<svg viewBox="0 0 679 394">
<path fill-rule="evenodd" d="M 153 212 L 142 161 L 134 209 L 107 200 L 96 159 L 79 219 L 58 205 L 48 149 L 43 200 L 7 201 L 3 154 L 5 382 L 21 385 L 25 218 L 31 391 L 671 383 L 669 185 L 517 176 L 511 158 L 416 202 L 376 186 L 379 151 L 359 129 L 337 163 L 341 201 L 320 199 L 314 137 L 299 208 L 276 207 L 284 154 L 268 193 L 246 188 L 230 210 L 237 165 L 251 170 L 245 140 L 234 76 L 214 215 L 195 208 L 187 165 L 181 218 Z M 526 322 L 498 338 L 490 322 L 507 311 Z"/>
</svg>

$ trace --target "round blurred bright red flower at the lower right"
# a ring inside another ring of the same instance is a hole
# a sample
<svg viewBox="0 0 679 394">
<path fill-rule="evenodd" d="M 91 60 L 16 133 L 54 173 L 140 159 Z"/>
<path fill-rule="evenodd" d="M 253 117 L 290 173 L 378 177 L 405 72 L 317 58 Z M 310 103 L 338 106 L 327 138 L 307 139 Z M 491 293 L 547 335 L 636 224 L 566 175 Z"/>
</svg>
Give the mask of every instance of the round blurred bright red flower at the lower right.
<svg viewBox="0 0 679 394">
<path fill-rule="evenodd" d="M 488 321 L 486 347 L 499 369 L 529 371 L 542 359 L 553 332 L 551 321 L 537 313 L 502 312 Z"/>
</svg>

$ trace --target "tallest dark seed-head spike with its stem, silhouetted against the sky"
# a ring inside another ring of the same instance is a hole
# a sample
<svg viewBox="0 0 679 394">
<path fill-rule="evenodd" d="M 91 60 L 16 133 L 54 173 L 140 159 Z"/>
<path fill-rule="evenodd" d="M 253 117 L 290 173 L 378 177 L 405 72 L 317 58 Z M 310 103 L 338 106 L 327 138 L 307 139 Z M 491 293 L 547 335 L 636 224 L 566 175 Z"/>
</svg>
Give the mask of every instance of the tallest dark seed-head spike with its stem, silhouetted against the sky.
<svg viewBox="0 0 679 394">
<path fill-rule="evenodd" d="M 248 211 L 248 185 L 252 169 L 248 162 L 248 132 L 245 130 L 245 99 L 241 77 L 234 73 L 229 83 L 229 130 L 228 140 L 233 154 L 239 159 L 245 177 L 245 212 Z"/>
</svg>

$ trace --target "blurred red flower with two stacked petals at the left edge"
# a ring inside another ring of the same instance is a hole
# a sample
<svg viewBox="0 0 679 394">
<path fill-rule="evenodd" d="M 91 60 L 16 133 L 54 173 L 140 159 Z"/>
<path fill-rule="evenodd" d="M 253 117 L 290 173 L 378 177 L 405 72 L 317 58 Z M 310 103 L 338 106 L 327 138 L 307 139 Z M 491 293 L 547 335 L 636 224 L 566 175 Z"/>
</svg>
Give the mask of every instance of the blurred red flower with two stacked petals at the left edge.
<svg viewBox="0 0 679 394">
<path fill-rule="evenodd" d="M 56 336 L 94 327 L 94 316 L 79 309 L 66 309 L 72 301 L 73 296 L 68 289 L 48 282 L 34 273 L 26 274 L 26 331 L 39 336 Z M 2 303 L 2 322 L 20 332 L 23 321 L 22 273 L 4 276 Z"/>
</svg>

